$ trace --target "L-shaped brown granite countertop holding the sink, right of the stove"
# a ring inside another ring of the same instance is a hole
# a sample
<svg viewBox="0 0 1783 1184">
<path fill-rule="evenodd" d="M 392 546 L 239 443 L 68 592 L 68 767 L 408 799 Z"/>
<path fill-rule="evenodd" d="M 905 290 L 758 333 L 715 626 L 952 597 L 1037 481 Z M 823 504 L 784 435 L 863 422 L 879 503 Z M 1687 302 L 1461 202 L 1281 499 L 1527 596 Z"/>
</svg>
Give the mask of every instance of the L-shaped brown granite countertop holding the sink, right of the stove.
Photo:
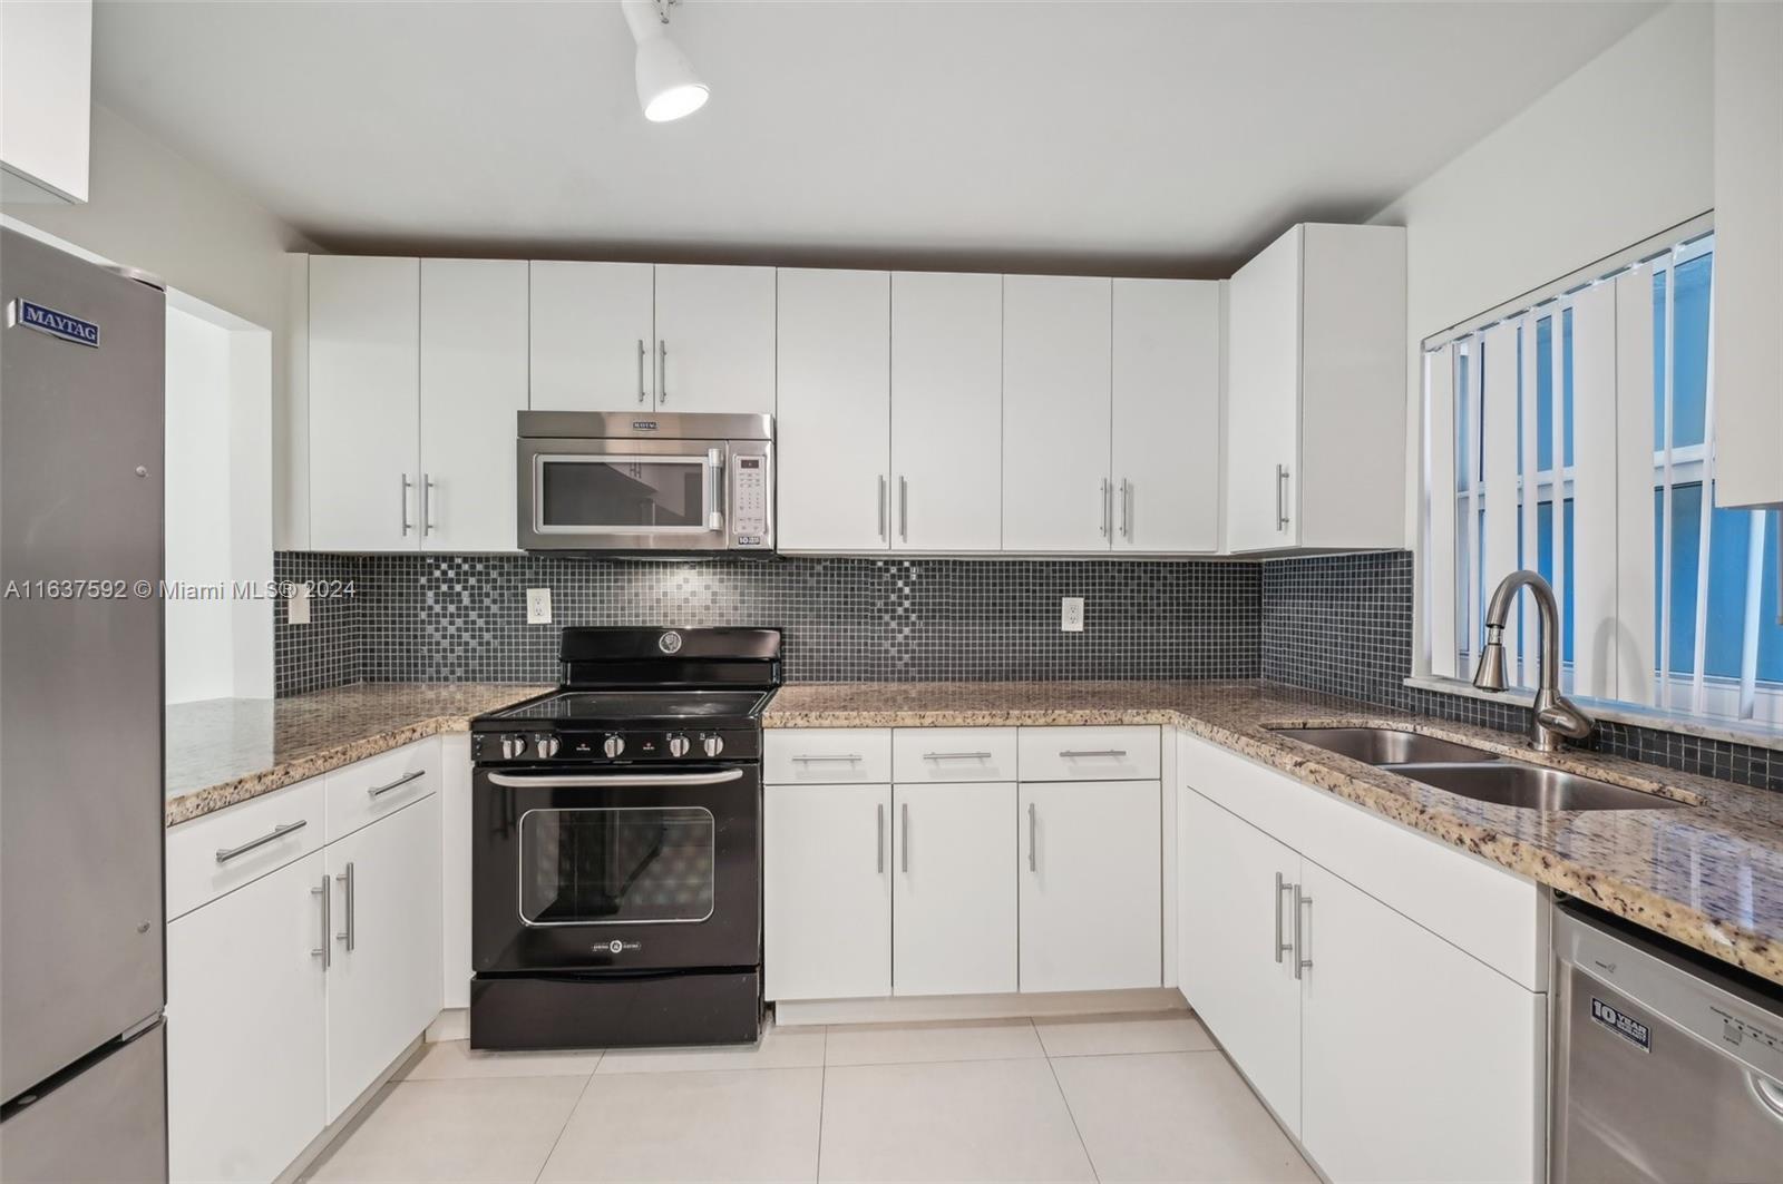
<svg viewBox="0 0 1783 1184">
<path fill-rule="evenodd" d="M 1783 983 L 1783 793 L 1275 683 L 813 683 L 783 688 L 768 728 L 1164 724 Z M 1385 724 L 1692 802 L 1533 811 L 1457 797 L 1312 749 L 1269 726 Z"/>
</svg>

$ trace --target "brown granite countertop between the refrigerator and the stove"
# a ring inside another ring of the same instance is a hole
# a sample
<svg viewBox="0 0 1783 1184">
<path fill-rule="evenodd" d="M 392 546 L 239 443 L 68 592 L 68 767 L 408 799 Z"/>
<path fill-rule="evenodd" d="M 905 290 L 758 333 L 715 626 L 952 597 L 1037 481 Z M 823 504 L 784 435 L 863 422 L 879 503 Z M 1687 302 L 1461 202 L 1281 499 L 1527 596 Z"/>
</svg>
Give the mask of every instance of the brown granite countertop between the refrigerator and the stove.
<svg viewBox="0 0 1783 1184">
<path fill-rule="evenodd" d="M 355 683 L 287 699 L 168 708 L 168 826 L 351 765 L 549 687 Z"/>
</svg>

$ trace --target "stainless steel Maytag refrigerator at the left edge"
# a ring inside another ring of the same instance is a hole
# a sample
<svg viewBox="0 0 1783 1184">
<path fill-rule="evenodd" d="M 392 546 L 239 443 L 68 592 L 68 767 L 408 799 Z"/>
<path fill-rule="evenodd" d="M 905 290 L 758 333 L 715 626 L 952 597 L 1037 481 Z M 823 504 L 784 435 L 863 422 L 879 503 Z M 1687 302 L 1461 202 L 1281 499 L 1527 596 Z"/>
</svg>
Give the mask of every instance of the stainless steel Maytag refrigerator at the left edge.
<svg viewBox="0 0 1783 1184">
<path fill-rule="evenodd" d="M 0 1177 L 164 1180 L 166 294 L 0 230 Z"/>
</svg>

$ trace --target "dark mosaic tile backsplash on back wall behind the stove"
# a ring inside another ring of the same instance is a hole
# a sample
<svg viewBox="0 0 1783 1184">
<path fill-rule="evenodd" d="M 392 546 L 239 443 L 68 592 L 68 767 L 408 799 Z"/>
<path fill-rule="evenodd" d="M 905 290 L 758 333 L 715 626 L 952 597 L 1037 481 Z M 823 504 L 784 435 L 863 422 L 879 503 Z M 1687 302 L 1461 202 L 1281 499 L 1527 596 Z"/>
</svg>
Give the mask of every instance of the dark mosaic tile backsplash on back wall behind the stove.
<svg viewBox="0 0 1783 1184">
<path fill-rule="evenodd" d="M 565 624 L 774 624 L 799 681 L 1255 678 L 1255 563 L 542 555 L 275 556 L 316 580 L 310 624 L 275 626 L 278 694 L 360 679 L 558 678 Z M 351 596 L 321 596 L 351 581 Z M 526 624 L 551 588 L 555 624 Z M 1059 599 L 1082 596 L 1082 633 Z"/>
</svg>

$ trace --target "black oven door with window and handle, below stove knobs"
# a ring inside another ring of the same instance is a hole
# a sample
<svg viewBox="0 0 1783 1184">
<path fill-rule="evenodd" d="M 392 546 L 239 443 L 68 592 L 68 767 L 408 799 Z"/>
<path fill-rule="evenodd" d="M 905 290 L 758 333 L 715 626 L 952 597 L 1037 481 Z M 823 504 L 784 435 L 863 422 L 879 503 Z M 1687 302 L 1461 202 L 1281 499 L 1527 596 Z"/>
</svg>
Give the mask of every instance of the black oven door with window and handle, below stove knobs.
<svg viewBox="0 0 1783 1184">
<path fill-rule="evenodd" d="M 472 808 L 478 974 L 760 965 L 760 769 L 478 769 Z"/>
</svg>

